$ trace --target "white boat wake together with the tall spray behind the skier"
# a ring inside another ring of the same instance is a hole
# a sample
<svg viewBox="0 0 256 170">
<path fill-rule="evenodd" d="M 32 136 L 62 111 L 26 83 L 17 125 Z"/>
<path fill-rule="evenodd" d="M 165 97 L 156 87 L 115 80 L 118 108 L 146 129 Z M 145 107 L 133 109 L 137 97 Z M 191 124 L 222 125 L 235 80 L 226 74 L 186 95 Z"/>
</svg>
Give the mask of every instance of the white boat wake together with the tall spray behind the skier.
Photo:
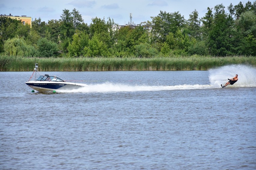
<svg viewBox="0 0 256 170">
<path fill-rule="evenodd" d="M 256 69 L 244 65 L 223 66 L 217 69 L 209 70 L 209 80 L 211 84 L 183 84 L 175 86 L 146 86 L 146 85 L 127 85 L 119 83 L 106 82 L 103 84 L 85 85 L 80 89 L 60 90 L 58 92 L 137 92 L 137 91 L 162 91 L 162 90 L 189 90 L 189 89 L 209 89 L 221 88 L 221 84 L 225 84 L 228 78 L 233 78 L 238 74 L 239 80 L 234 85 L 227 87 L 256 87 Z"/>
</svg>

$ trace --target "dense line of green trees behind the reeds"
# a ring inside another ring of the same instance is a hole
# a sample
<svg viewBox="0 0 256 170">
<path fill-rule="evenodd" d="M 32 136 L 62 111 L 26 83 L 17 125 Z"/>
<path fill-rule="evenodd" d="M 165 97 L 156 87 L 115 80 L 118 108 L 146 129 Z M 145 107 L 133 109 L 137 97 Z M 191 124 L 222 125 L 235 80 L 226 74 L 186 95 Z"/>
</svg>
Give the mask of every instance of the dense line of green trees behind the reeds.
<svg viewBox="0 0 256 170">
<path fill-rule="evenodd" d="M 184 19 L 160 11 L 135 28 L 118 29 L 113 19 L 84 23 L 78 10 L 63 10 L 59 20 L 41 18 L 23 25 L 0 17 L 0 53 L 23 57 L 170 57 L 175 55 L 256 56 L 256 1 L 197 10 Z"/>
</svg>

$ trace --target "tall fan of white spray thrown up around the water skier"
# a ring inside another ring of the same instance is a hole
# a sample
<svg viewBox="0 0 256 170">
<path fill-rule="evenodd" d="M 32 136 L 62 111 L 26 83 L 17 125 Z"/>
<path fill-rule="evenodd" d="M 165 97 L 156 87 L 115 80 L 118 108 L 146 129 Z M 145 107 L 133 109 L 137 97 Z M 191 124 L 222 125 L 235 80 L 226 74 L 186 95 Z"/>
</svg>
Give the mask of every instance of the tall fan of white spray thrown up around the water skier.
<svg viewBox="0 0 256 170">
<path fill-rule="evenodd" d="M 238 81 L 227 87 L 256 87 L 256 68 L 245 65 L 222 66 L 209 70 L 209 80 L 212 86 L 220 86 L 227 83 L 228 78 L 238 75 Z M 215 81 L 216 80 L 216 81 Z"/>
</svg>

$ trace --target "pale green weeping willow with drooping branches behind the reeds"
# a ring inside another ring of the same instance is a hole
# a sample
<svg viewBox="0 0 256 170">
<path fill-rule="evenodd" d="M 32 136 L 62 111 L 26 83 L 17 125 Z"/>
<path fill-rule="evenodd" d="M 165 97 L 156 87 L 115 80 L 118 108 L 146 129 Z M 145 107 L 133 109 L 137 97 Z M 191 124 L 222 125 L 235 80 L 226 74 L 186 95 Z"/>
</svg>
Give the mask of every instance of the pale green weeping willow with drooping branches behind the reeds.
<svg viewBox="0 0 256 170">
<path fill-rule="evenodd" d="M 4 50 L 6 55 L 20 57 L 32 57 L 35 54 L 35 48 L 32 45 L 27 45 L 23 37 L 15 37 L 6 40 Z"/>
</svg>

